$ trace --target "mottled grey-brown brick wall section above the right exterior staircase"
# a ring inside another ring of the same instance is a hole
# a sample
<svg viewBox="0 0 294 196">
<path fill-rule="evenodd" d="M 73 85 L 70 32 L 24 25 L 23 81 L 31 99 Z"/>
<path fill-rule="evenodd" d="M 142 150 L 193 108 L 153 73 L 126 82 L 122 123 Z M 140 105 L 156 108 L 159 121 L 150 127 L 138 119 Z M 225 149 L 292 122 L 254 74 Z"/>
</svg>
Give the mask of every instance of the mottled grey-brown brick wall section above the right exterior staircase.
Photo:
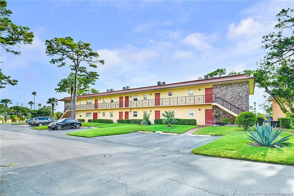
<svg viewBox="0 0 294 196">
<path fill-rule="evenodd" d="M 213 94 L 216 94 L 216 97 L 220 97 L 244 111 L 249 111 L 248 82 L 213 85 Z"/>
</svg>

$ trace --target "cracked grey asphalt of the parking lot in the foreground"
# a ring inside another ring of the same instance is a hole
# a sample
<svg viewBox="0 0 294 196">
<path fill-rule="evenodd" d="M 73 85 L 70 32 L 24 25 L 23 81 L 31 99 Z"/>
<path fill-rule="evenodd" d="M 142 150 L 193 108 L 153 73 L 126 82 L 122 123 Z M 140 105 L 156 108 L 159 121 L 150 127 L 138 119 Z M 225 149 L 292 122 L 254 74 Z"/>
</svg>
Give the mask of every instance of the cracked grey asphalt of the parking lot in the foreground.
<svg viewBox="0 0 294 196">
<path fill-rule="evenodd" d="M 217 137 L 131 133 L 83 138 L 76 129 L 1 124 L 3 195 L 294 194 L 294 167 L 190 154 Z M 79 129 L 84 130 L 86 128 Z"/>
</svg>

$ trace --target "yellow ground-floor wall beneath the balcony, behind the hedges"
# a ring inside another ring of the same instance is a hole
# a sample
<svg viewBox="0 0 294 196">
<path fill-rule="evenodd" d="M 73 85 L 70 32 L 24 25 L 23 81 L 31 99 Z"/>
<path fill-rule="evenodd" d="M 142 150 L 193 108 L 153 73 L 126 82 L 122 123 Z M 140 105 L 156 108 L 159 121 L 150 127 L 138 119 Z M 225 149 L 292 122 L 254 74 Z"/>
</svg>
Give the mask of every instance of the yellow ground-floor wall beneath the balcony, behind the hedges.
<svg viewBox="0 0 294 196">
<path fill-rule="evenodd" d="M 109 109 L 77 110 L 76 119 L 79 119 L 79 118 L 85 119 L 87 122 L 88 119 L 93 119 L 93 112 L 97 112 L 97 118 L 113 119 L 113 122 L 116 123 L 116 121 L 119 119 L 119 112 L 123 112 L 123 119 L 125 118 L 125 111 L 129 113 L 129 119 L 142 119 L 143 111 L 147 111 L 148 113 L 150 113 L 150 110 L 151 110 L 150 121 L 151 123 L 154 123 L 155 111 L 160 111 L 160 113 L 163 113 L 164 111 L 173 110 L 176 113 L 176 118 L 196 119 L 198 125 L 205 125 L 205 109 L 212 109 L 212 105 L 210 104 L 210 105 L 168 106 L 168 107 L 164 106 L 164 107 L 145 107 L 145 108 L 109 108 Z M 189 110 L 194 110 L 194 116 L 189 116 Z M 134 111 L 138 112 L 137 117 L 133 116 Z M 105 117 L 103 117 L 103 112 L 105 112 Z M 112 118 L 110 117 L 110 112 L 113 112 Z M 86 113 L 91 113 L 91 117 L 86 117 Z"/>
</svg>

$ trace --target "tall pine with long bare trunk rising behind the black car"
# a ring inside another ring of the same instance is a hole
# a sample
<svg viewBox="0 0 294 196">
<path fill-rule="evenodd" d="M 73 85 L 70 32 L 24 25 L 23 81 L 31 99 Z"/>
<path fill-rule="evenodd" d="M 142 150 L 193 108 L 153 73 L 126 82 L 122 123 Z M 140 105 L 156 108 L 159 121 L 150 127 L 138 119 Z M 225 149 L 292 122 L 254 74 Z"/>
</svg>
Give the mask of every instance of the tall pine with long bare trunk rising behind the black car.
<svg viewBox="0 0 294 196">
<path fill-rule="evenodd" d="M 46 53 L 48 56 L 59 56 L 59 58 L 51 59 L 50 63 L 58 64 L 58 67 L 66 65 L 66 60 L 73 64 L 69 65 L 75 73 L 74 79 L 74 98 L 71 108 L 71 118 L 76 117 L 76 95 L 78 92 L 78 73 L 88 73 L 86 65 L 96 68 L 96 63 L 104 64 L 104 60 L 98 60 L 98 52 L 93 52 L 89 43 L 82 41 L 74 42 L 71 37 L 54 38 L 46 40 Z M 84 63 L 84 66 L 80 65 Z"/>
</svg>

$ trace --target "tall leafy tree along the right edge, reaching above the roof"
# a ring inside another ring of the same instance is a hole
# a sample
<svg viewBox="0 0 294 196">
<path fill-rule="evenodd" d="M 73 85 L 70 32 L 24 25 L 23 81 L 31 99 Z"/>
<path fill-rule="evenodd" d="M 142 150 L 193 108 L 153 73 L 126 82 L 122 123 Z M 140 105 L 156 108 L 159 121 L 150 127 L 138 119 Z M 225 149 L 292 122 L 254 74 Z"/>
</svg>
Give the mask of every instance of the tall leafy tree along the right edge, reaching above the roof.
<svg viewBox="0 0 294 196">
<path fill-rule="evenodd" d="M 255 83 L 264 88 L 284 113 L 294 113 L 294 9 L 277 14 L 275 32 L 263 36 L 268 50 L 254 71 Z M 290 35 L 289 35 L 289 32 Z M 289 108 L 289 109 L 288 109 Z"/>
</svg>

